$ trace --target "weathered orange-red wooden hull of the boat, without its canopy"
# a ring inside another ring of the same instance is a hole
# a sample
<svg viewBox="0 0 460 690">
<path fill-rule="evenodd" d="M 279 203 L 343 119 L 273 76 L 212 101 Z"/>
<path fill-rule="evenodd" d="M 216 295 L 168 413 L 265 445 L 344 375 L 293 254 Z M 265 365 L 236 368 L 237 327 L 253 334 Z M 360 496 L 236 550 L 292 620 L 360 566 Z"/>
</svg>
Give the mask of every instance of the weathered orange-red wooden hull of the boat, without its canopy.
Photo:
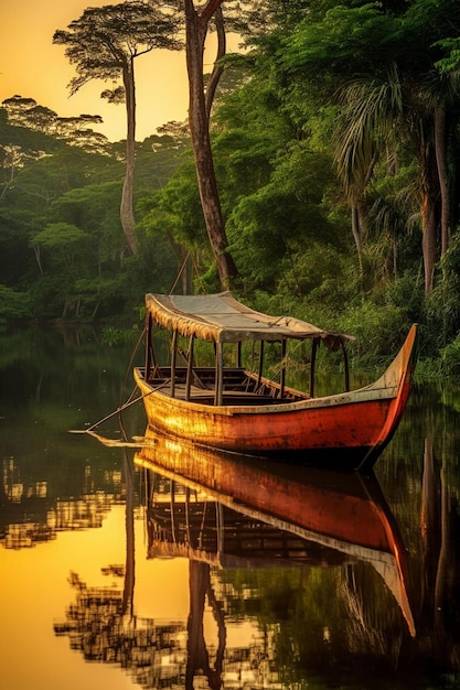
<svg viewBox="0 0 460 690">
<path fill-rule="evenodd" d="M 386 373 L 359 390 L 277 405 L 213 406 L 173 398 L 135 369 L 149 425 L 194 443 L 306 464 L 372 470 L 410 390 L 415 328 Z"/>
</svg>

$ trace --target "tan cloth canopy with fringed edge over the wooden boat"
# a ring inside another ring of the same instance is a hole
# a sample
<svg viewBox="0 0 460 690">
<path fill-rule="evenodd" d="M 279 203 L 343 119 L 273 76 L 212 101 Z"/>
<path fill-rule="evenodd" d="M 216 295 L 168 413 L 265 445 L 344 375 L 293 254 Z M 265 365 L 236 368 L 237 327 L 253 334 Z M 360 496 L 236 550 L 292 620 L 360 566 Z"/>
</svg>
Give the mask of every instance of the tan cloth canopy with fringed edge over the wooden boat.
<svg viewBox="0 0 460 690">
<path fill-rule="evenodd" d="M 231 292 L 217 294 L 146 295 L 151 319 L 169 331 L 214 343 L 321 339 L 330 349 L 343 347 L 351 335 L 324 331 L 291 316 L 268 316 L 238 302 Z"/>
</svg>

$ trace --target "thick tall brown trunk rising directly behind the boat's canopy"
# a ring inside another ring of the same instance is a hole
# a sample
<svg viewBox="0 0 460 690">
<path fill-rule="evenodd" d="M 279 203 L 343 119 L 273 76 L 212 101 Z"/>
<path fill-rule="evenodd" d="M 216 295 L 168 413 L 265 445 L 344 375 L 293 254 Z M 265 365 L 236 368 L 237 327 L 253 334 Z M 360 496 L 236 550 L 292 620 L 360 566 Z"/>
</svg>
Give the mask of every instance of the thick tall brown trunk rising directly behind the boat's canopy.
<svg viewBox="0 0 460 690">
<path fill-rule="evenodd" d="M 218 10 L 222 0 L 210 0 L 201 9 L 195 10 L 193 0 L 185 0 L 185 34 L 186 34 L 186 67 L 189 73 L 189 121 L 195 159 L 196 176 L 200 190 L 201 205 L 211 249 L 217 265 L 221 285 L 224 290 L 231 287 L 232 278 L 236 277 L 235 262 L 228 252 L 228 241 L 225 231 L 215 176 L 214 161 L 210 139 L 210 101 L 206 104 L 203 77 L 204 41 L 207 25 L 213 13 Z M 221 32 L 223 26 L 221 26 Z M 222 47 L 222 35 L 220 45 Z M 215 88 L 216 77 L 213 77 Z"/>
</svg>

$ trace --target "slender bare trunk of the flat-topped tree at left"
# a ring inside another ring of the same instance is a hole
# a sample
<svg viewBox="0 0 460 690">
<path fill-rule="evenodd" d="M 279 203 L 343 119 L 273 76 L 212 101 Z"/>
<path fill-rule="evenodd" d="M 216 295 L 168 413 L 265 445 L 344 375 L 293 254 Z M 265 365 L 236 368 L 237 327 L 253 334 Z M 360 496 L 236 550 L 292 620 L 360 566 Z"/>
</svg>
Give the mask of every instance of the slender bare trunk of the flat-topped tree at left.
<svg viewBox="0 0 460 690">
<path fill-rule="evenodd" d="M 135 187 L 135 147 L 136 147 L 136 87 L 133 58 L 124 67 L 124 85 L 126 94 L 127 136 L 126 136 L 126 173 L 121 192 L 120 222 L 131 254 L 138 254 L 136 237 L 136 219 L 133 214 Z"/>
</svg>

